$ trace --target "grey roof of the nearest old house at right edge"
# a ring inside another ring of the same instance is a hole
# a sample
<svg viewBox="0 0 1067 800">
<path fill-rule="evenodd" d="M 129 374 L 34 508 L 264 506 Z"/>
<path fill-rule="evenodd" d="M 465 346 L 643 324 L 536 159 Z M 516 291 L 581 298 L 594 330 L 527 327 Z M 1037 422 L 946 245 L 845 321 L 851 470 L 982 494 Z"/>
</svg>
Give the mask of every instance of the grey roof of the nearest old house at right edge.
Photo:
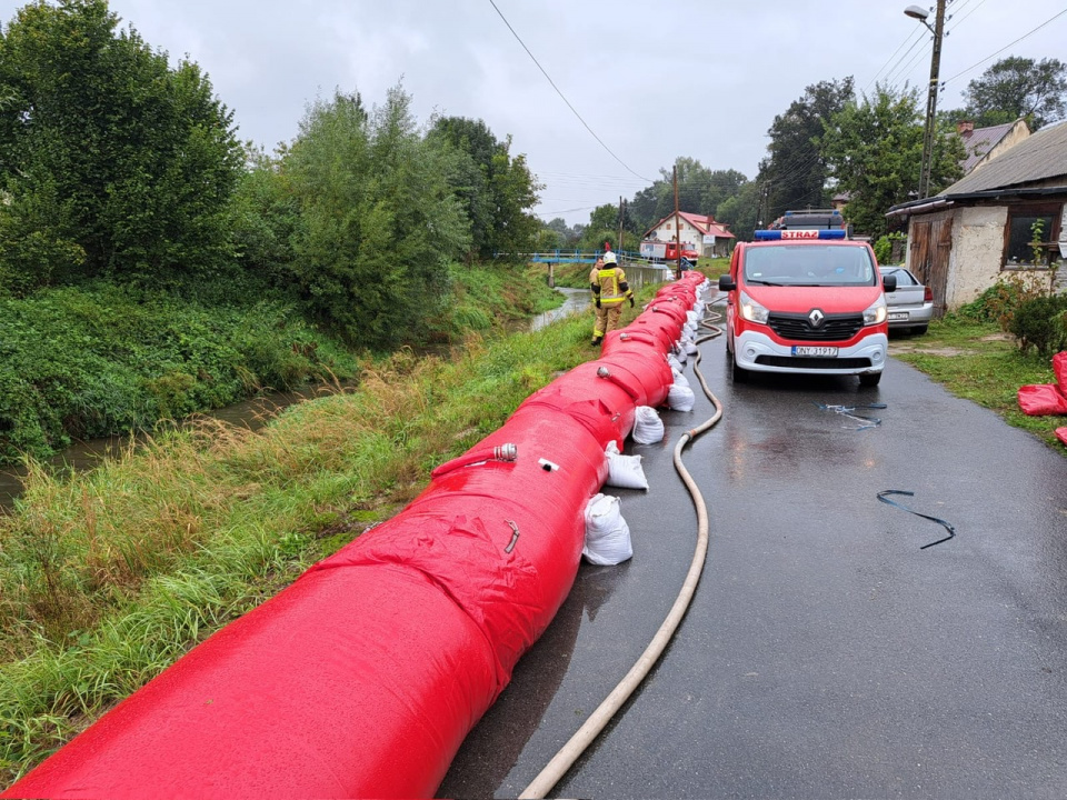
<svg viewBox="0 0 1067 800">
<path fill-rule="evenodd" d="M 1057 178 L 1067 184 L 1067 122 L 1031 133 L 937 197 L 1021 187 Z"/>
</svg>

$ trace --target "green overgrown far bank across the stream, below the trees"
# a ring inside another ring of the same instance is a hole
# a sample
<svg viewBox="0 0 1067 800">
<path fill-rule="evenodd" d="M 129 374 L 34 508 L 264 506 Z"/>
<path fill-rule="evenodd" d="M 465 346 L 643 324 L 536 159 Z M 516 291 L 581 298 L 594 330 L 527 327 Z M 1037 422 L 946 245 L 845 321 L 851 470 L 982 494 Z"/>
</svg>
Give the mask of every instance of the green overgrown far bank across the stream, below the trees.
<svg viewBox="0 0 1067 800">
<path fill-rule="evenodd" d="M 422 331 L 447 344 L 497 317 L 558 302 L 542 280 L 456 268 L 452 297 Z M 308 322 L 295 302 L 257 286 L 181 293 L 114 283 L 0 298 L 0 463 L 47 457 L 72 438 L 151 429 L 263 389 L 353 379 L 360 359 Z"/>
</svg>

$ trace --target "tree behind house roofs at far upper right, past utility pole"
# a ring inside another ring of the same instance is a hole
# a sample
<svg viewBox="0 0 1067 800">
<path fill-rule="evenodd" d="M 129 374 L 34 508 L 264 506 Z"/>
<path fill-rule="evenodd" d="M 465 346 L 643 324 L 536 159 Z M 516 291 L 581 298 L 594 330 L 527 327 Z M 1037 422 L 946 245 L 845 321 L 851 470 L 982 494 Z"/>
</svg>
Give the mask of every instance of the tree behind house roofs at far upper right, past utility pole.
<svg viewBox="0 0 1067 800">
<path fill-rule="evenodd" d="M 1058 59 L 1010 56 L 967 84 L 966 112 L 975 124 L 997 124 L 1025 118 L 1031 130 L 1063 119 L 1067 64 Z"/>
</svg>

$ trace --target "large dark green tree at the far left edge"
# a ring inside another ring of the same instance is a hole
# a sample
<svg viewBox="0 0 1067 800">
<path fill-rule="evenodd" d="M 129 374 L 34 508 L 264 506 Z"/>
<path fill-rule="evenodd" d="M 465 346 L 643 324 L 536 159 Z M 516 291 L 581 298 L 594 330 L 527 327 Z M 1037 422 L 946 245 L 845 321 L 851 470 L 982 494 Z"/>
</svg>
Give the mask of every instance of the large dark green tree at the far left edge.
<svg viewBox="0 0 1067 800">
<path fill-rule="evenodd" d="M 23 286 L 171 281 L 229 256 L 232 116 L 118 22 L 106 0 L 39 0 L 0 37 L 0 258 Z"/>
</svg>

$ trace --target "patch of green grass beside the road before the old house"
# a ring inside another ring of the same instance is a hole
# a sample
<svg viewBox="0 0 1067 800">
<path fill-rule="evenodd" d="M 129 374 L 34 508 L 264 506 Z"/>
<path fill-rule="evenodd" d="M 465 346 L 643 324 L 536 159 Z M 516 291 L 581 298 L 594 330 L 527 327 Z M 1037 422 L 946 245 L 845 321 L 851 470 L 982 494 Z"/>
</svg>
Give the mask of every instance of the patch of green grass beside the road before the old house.
<svg viewBox="0 0 1067 800">
<path fill-rule="evenodd" d="M 1055 434 L 1056 428 L 1067 424 L 1067 418 L 1028 417 L 1019 410 L 1019 387 L 1055 382 L 1049 359 L 1023 356 L 1014 339 L 996 323 L 949 316 L 935 320 L 925 336 L 894 339 L 891 344 L 895 358 L 1067 456 L 1067 448 Z"/>
</svg>

